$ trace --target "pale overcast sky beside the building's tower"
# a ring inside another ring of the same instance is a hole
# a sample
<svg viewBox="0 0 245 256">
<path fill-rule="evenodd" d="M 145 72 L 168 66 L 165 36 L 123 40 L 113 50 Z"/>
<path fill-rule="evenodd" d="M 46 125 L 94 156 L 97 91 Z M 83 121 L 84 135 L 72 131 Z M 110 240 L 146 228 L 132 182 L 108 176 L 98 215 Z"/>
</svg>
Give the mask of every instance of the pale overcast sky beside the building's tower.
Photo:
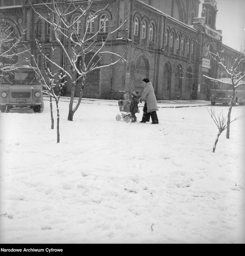
<svg viewBox="0 0 245 256">
<path fill-rule="evenodd" d="M 199 17 L 202 3 L 200 0 Z M 240 51 L 245 49 L 245 0 L 216 0 L 216 29 L 222 30 L 224 45 Z"/>
</svg>

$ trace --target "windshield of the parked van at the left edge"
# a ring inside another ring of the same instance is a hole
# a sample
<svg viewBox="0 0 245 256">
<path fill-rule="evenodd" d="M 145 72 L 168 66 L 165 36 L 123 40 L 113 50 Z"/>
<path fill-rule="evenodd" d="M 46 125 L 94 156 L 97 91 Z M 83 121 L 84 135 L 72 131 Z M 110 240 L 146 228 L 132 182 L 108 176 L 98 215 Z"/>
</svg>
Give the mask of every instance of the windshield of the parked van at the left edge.
<svg viewBox="0 0 245 256">
<path fill-rule="evenodd" d="M 38 84 L 36 73 L 32 69 L 14 69 L 4 71 L 2 84 Z"/>
</svg>

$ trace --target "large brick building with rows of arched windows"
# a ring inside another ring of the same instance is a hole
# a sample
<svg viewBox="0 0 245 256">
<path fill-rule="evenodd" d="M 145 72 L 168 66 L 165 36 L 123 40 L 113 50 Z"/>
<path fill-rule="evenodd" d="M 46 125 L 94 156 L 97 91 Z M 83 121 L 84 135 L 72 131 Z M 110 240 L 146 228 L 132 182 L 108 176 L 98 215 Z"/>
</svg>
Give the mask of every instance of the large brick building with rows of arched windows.
<svg viewBox="0 0 245 256">
<path fill-rule="evenodd" d="M 32 1 L 39 12 L 45 13 L 46 9 L 41 2 Z M 68 5 L 69 2 L 66 0 L 63 4 Z M 74 3 L 75 6 L 86 5 L 87 1 L 75 0 Z M 232 58 L 238 54 L 222 44 L 222 32 L 216 30 L 215 0 L 204 1 L 201 17 L 198 14 L 199 0 L 136 0 L 134 5 L 133 0 L 95 0 L 91 12 L 96 12 L 107 4 L 105 12 L 100 13 L 90 26 L 97 31 L 103 15 L 109 14 L 107 25 L 96 39 L 99 42 L 101 36 L 108 33 L 107 29 L 112 21 L 119 26 L 133 10 L 122 30 L 113 34 L 105 45 L 105 51 L 117 54 L 123 54 L 127 49 L 124 57 L 129 64 L 120 62 L 90 73 L 86 79 L 84 97 L 120 99 L 125 91 L 137 90 L 142 93 L 142 79 L 149 77 L 158 100 L 209 99 L 210 82 L 202 75 L 219 78 L 223 72 L 210 59 L 206 48 L 212 42 L 217 51 L 224 51 L 228 65 L 231 65 Z M 27 0 L 0 0 L 0 13 L 17 34 L 21 33 L 22 27 L 27 28 L 22 42 L 31 45 L 31 51 L 40 66 L 43 60 L 33 46 L 35 37 L 45 45 L 48 55 L 51 55 L 51 46 L 55 47 L 53 60 L 61 66 L 67 65 L 50 27 L 38 18 Z M 79 20 L 77 27 L 80 29 L 79 33 L 84 33 L 86 19 Z M 107 54 L 102 57 L 99 65 L 110 63 L 111 59 L 113 56 Z M 24 57 L 20 57 L 18 62 L 25 64 Z M 241 69 L 244 70 L 244 65 Z M 71 84 L 67 83 L 66 95 L 69 95 L 70 89 Z"/>
</svg>

